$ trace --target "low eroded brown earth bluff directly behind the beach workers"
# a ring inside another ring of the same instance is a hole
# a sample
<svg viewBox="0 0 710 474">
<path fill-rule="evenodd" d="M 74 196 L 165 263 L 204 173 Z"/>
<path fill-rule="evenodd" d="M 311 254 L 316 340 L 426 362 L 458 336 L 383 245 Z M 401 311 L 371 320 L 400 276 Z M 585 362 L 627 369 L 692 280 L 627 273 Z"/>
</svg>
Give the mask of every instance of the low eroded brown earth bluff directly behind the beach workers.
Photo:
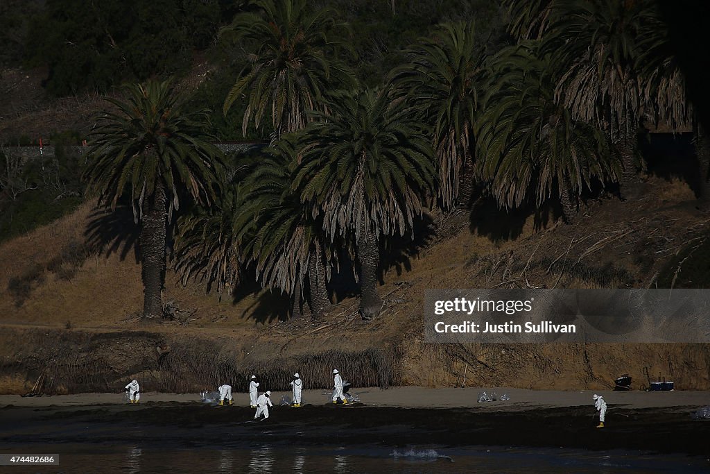
<svg viewBox="0 0 710 474">
<path fill-rule="evenodd" d="M 146 392 L 197 393 L 224 381 L 241 392 L 252 373 L 268 387 L 288 390 L 294 372 L 302 375 L 307 389 L 328 389 L 332 367 L 356 387 L 612 389 L 617 377 L 628 374 L 633 389 L 662 378 L 676 389 L 710 389 L 710 345 L 703 344 L 430 345 L 400 340 L 376 347 L 352 338 L 340 345 L 331 336 L 284 338 L 268 332 L 252 339 L 3 328 L 0 393 L 26 394 L 41 375 L 43 394 L 121 392 L 133 378 Z"/>
</svg>

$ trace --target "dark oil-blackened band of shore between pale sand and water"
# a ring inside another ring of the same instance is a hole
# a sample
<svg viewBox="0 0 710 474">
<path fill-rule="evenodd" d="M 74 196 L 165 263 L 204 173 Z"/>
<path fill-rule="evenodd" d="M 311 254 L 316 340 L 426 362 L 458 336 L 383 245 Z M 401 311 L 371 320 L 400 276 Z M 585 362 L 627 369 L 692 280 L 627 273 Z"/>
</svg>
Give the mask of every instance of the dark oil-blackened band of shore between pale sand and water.
<svg viewBox="0 0 710 474">
<path fill-rule="evenodd" d="M 692 411 L 688 406 L 610 406 L 606 428 L 595 429 L 594 408 L 589 406 L 493 411 L 307 404 L 300 409 L 275 406 L 270 419 L 258 423 L 249 408 L 199 402 L 5 406 L 0 409 L 0 443 L 527 446 L 710 456 L 710 421 L 692 419 Z"/>
</svg>

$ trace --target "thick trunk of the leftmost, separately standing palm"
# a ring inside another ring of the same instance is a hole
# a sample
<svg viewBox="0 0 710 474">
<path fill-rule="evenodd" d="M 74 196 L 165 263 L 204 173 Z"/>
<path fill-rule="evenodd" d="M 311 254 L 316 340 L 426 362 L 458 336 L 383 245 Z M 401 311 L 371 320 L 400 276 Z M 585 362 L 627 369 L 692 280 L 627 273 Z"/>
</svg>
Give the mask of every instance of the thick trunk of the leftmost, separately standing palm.
<svg viewBox="0 0 710 474">
<path fill-rule="evenodd" d="M 165 188 L 158 185 L 153 197 L 148 199 L 148 209 L 141 217 L 143 318 L 163 316 L 165 233 L 168 225 L 165 210 Z"/>
</svg>

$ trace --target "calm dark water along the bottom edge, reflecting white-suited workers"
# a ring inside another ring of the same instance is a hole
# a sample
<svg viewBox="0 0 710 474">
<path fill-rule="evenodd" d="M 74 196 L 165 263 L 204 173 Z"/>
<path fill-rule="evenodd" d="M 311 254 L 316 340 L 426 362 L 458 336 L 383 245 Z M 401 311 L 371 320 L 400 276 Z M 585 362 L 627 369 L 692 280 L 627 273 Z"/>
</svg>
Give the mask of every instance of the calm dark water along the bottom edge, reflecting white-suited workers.
<svg viewBox="0 0 710 474">
<path fill-rule="evenodd" d="M 710 473 L 710 460 L 639 452 L 533 448 L 143 448 L 13 446 L 59 453 L 59 466 L 0 468 L 8 473 Z M 0 451 L 7 453 L 4 446 Z"/>
</svg>

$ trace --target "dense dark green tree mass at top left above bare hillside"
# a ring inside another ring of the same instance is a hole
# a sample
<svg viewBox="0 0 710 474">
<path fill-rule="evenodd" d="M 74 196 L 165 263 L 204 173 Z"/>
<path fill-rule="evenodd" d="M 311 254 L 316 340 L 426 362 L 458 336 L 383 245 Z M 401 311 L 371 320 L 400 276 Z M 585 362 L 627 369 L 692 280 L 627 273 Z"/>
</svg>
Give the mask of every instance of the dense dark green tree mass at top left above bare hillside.
<svg viewBox="0 0 710 474">
<path fill-rule="evenodd" d="M 53 95 L 185 71 L 217 33 L 219 0 L 48 0 L 31 22 L 29 65 Z M 159 21 L 157 20 L 159 18 Z"/>
</svg>

